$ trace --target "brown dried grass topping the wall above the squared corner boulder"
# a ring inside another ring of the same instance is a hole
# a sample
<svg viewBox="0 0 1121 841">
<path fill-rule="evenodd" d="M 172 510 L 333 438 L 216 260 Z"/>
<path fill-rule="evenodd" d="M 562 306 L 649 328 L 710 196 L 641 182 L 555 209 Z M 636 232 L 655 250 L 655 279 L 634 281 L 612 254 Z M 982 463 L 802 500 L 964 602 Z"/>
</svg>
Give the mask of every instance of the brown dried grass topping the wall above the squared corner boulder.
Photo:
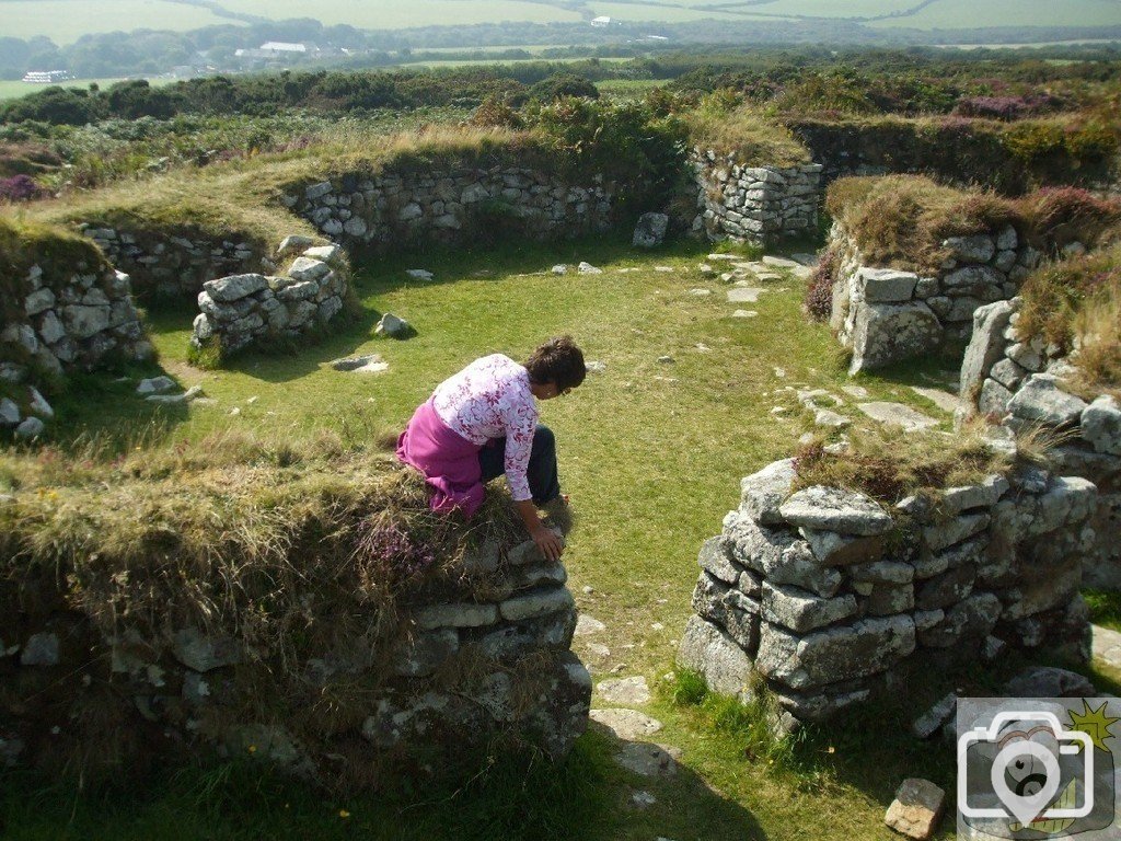
<svg viewBox="0 0 1121 841">
<path fill-rule="evenodd" d="M 1026 229 L 1023 212 L 994 193 L 944 187 L 916 175 L 853 177 L 834 182 L 826 207 L 856 239 L 872 266 L 933 272 L 945 259 L 947 237 Z"/>
</svg>

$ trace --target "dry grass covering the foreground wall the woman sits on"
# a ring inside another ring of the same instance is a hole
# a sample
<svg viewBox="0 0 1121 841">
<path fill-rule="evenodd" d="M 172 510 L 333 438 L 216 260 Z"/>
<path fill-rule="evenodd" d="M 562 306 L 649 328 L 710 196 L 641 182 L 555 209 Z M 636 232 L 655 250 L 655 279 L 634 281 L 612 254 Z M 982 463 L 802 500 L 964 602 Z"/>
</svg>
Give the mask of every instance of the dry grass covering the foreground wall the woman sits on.
<svg viewBox="0 0 1121 841">
<path fill-rule="evenodd" d="M 281 665 L 385 647 L 401 606 L 513 528 L 501 500 L 434 515 L 417 473 L 327 435 L 8 452 L 0 487 L 0 583 L 53 581 L 105 636 L 198 626 Z"/>
</svg>

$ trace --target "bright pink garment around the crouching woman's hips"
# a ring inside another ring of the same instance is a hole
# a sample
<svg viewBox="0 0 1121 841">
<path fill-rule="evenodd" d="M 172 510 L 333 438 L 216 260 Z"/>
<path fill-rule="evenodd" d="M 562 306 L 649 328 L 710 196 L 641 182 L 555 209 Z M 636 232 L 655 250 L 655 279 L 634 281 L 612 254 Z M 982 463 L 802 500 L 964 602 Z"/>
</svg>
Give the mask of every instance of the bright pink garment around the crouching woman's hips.
<svg viewBox="0 0 1121 841">
<path fill-rule="evenodd" d="M 433 489 L 434 511 L 463 511 L 471 517 L 482 505 L 482 468 L 473 444 L 439 419 L 432 398 L 413 413 L 413 419 L 397 440 L 397 458 L 416 468 Z"/>
</svg>

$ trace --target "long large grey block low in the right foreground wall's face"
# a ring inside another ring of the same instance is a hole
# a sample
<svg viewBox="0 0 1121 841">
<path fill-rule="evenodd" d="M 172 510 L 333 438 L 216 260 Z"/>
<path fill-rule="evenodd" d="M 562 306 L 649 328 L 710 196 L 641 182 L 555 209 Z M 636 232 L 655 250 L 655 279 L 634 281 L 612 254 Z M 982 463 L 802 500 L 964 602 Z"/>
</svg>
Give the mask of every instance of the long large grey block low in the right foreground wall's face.
<svg viewBox="0 0 1121 841">
<path fill-rule="evenodd" d="M 907 614 L 862 619 L 804 637 L 763 622 L 756 667 L 766 677 L 804 690 L 886 671 L 915 650 Z"/>
</svg>

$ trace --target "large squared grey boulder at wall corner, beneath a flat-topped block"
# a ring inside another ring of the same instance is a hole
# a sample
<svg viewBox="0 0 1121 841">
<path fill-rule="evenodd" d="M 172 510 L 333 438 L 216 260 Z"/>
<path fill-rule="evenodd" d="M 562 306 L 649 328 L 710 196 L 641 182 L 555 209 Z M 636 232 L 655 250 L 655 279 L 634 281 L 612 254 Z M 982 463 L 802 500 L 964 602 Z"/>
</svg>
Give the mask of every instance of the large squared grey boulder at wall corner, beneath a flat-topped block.
<svg viewBox="0 0 1121 841">
<path fill-rule="evenodd" d="M 849 373 L 883 368 L 926 353 L 942 341 L 942 325 L 923 302 L 864 304 L 852 333 Z"/>
</svg>

